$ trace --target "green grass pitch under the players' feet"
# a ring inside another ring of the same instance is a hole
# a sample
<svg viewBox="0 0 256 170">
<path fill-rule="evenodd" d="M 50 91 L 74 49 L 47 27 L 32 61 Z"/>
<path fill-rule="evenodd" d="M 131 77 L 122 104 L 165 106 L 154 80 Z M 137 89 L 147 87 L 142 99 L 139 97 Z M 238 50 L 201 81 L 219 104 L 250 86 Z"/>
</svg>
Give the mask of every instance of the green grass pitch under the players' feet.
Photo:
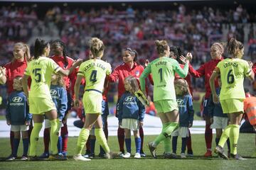
<svg viewBox="0 0 256 170">
<path fill-rule="evenodd" d="M 255 149 L 255 134 L 240 134 L 238 142 L 238 152 L 243 156 L 247 157 L 245 161 L 236 161 L 236 160 L 223 160 L 218 158 L 213 154 L 213 158 L 205 159 L 202 155 L 206 152 L 206 145 L 204 142 L 204 135 L 192 135 L 192 145 L 194 157 L 187 159 L 164 159 L 160 155 L 163 154 L 163 145 L 160 144 L 157 148 L 157 154 L 159 155 L 158 159 L 152 159 L 149 154 L 149 149 L 146 147 L 146 143 L 153 140 L 156 136 L 145 136 L 144 139 L 144 152 L 146 152 L 146 158 L 142 159 L 92 159 L 91 162 L 75 162 L 72 159 L 72 155 L 75 151 L 75 145 L 77 142 L 77 137 L 70 137 L 68 141 L 68 155 L 69 159 L 66 162 L 0 162 L 0 169 L 40 169 L 40 170 L 50 170 L 50 169 L 62 169 L 62 170 L 99 170 L 99 169 L 255 169 L 255 158 L 250 158 L 252 152 Z M 215 147 L 215 135 L 213 136 L 213 147 Z M 118 143 L 117 137 L 109 137 L 108 143 L 113 152 L 118 152 Z M 177 154 L 181 150 L 181 139 L 178 138 Z M 132 154 L 134 154 L 134 140 L 132 140 Z M 22 154 L 22 142 L 20 143 L 18 149 L 18 156 L 21 157 Z M 3 160 L 5 157 L 8 157 L 11 152 L 9 139 L 0 138 L 0 157 Z M 38 142 L 38 154 L 43 153 L 43 139 L 40 138 Z M 99 153 L 99 147 L 96 143 L 95 154 Z"/>
</svg>

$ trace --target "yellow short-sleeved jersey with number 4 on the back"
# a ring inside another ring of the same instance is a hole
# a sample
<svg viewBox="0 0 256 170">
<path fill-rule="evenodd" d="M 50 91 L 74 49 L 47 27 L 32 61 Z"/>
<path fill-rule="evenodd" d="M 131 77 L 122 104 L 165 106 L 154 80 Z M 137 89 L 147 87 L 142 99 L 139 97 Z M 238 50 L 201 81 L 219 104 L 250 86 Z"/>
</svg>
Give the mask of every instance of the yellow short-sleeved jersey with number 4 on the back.
<svg viewBox="0 0 256 170">
<path fill-rule="evenodd" d="M 94 90 L 102 93 L 105 77 L 111 74 L 110 63 L 100 59 L 91 59 L 83 62 L 78 75 L 85 77 L 85 90 Z"/>
</svg>

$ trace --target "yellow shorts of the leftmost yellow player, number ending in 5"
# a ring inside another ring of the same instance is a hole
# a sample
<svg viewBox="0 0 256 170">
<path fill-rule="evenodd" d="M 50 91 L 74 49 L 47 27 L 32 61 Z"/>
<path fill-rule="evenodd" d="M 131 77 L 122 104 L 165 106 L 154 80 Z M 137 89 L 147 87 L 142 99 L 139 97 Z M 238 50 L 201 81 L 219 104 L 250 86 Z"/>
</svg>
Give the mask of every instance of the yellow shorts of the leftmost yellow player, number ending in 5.
<svg viewBox="0 0 256 170">
<path fill-rule="evenodd" d="M 56 110 L 52 98 L 29 98 L 29 113 L 41 115 Z"/>
</svg>

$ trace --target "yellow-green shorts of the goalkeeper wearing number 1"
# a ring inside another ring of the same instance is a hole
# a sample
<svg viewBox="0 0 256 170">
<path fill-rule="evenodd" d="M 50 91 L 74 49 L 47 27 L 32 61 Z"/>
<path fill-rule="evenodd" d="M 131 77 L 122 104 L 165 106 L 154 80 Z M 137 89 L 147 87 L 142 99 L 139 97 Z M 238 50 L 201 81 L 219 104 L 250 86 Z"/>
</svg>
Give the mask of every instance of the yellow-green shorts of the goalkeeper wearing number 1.
<svg viewBox="0 0 256 170">
<path fill-rule="evenodd" d="M 174 110 L 178 111 L 178 104 L 175 100 L 154 101 L 154 105 L 157 113 L 167 113 Z"/>
</svg>

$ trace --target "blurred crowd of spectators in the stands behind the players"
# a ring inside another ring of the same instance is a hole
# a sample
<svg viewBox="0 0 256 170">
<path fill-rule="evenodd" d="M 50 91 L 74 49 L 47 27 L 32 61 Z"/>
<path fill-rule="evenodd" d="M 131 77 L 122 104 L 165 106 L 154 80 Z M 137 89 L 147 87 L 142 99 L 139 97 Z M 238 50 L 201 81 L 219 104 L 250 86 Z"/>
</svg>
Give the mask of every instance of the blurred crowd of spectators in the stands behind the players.
<svg viewBox="0 0 256 170">
<path fill-rule="evenodd" d="M 140 62 L 153 60 L 156 57 L 154 40 L 159 39 L 167 39 L 170 45 L 192 52 L 191 64 L 195 68 L 210 59 L 209 47 L 213 42 L 225 42 L 230 37 L 244 42 L 248 49 L 245 55 L 251 60 L 256 56 L 256 29 L 253 25 L 256 13 L 249 13 L 241 5 L 228 10 L 210 6 L 196 10 L 179 5 L 162 11 L 146 6 L 144 9 L 127 6 L 126 10 L 112 6 L 90 10 L 55 6 L 48 8 L 41 18 L 38 10 L 36 4 L 29 7 L 1 6 L 1 65 L 11 60 L 15 42 L 28 42 L 33 47 L 33 38 L 38 36 L 63 40 L 70 57 L 82 59 L 89 53 L 87 40 L 98 37 L 104 40 L 105 60 L 113 68 L 122 62 L 121 52 L 125 47 L 137 50 Z M 203 79 L 193 81 L 195 89 L 204 89 L 201 81 Z"/>
</svg>

